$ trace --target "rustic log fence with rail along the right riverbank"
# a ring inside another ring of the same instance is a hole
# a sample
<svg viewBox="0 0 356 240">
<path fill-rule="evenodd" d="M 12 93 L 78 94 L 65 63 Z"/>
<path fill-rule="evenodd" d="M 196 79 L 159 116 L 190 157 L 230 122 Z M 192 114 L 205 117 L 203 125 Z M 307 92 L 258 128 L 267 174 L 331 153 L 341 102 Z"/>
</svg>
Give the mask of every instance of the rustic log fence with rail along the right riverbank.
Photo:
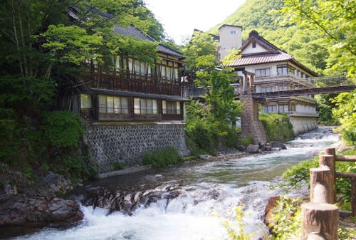
<svg viewBox="0 0 356 240">
<path fill-rule="evenodd" d="M 335 148 L 328 148 L 320 155 L 319 167 L 310 169 L 310 202 L 302 204 L 302 240 L 337 240 L 336 177 L 351 180 L 352 216 L 356 216 L 356 173 L 336 172 L 336 161 L 356 162 L 356 156 L 337 156 Z"/>
</svg>

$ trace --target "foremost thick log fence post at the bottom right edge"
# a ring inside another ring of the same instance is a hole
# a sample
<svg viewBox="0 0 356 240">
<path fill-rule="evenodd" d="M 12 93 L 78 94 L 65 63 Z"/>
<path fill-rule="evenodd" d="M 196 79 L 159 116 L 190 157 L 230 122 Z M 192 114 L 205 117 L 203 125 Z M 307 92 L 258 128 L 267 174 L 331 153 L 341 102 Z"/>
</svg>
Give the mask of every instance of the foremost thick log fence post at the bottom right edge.
<svg viewBox="0 0 356 240">
<path fill-rule="evenodd" d="M 302 204 L 302 240 L 337 240 L 339 209 L 333 204 Z"/>
</svg>

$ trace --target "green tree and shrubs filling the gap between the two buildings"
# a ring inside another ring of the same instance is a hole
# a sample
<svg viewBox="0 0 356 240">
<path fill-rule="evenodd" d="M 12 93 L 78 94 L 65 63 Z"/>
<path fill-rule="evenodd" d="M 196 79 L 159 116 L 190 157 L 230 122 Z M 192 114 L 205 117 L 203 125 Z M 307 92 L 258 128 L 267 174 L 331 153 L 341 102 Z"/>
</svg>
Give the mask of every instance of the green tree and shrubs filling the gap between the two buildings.
<svg viewBox="0 0 356 240">
<path fill-rule="evenodd" d="M 211 152 L 219 144 L 234 147 L 237 142 L 231 122 L 239 115 L 241 106 L 234 101 L 234 87 L 230 85 L 233 73 L 219 63 L 216 50 L 212 36 L 198 31 L 183 47 L 187 73 L 206 93 L 204 103 L 192 101 L 187 105 L 186 133 L 196 152 Z"/>
</svg>

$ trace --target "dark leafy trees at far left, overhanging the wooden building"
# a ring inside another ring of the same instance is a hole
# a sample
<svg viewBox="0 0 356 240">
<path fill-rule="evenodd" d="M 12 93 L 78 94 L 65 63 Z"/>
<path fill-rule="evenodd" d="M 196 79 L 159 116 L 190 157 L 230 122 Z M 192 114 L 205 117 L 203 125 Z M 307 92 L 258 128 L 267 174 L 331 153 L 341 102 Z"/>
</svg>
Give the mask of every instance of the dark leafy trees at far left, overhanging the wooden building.
<svg viewBox="0 0 356 240">
<path fill-rule="evenodd" d="M 157 58 L 158 43 L 118 36 L 115 24 L 133 24 L 157 41 L 164 40 L 162 25 L 142 0 L 4 0 L 0 14 L 1 161 L 41 167 L 57 158 L 87 172 L 72 149 L 81 135 L 78 119 L 53 112 L 58 96 L 78 84 L 88 59 L 108 66 L 112 54 Z"/>
</svg>

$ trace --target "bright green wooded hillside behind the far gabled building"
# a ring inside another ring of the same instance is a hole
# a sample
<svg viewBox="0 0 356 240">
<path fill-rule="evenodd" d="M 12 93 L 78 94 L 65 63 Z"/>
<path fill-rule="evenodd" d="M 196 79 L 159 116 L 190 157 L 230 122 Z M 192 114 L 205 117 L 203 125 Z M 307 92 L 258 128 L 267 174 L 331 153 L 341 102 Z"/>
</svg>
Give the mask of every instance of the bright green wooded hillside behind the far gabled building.
<svg viewBox="0 0 356 240">
<path fill-rule="evenodd" d="M 218 34 L 222 24 L 242 26 L 244 43 L 248 33 L 256 30 L 319 75 L 345 74 L 355 83 L 355 9 L 355 1 L 347 0 L 247 0 L 209 33 Z M 345 105 L 345 99 L 347 103 L 354 103 L 356 94 L 354 91 L 344 95 L 339 98 L 317 96 L 319 121 L 325 125 L 340 123 L 342 137 L 353 145 L 356 142 L 356 132 L 352 130 L 356 124 L 355 109 Z M 345 114 L 340 115 L 340 112 Z"/>
</svg>

